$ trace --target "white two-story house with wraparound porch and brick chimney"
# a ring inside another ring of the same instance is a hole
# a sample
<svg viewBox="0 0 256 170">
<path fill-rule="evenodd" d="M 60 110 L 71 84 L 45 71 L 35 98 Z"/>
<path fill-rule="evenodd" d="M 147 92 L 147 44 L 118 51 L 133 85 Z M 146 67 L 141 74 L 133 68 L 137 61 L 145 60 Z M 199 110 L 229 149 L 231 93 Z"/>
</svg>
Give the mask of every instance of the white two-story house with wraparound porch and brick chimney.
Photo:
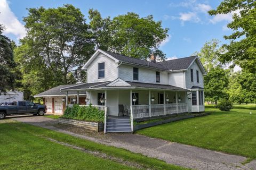
<svg viewBox="0 0 256 170">
<path fill-rule="evenodd" d="M 156 62 L 154 56 L 145 61 L 98 49 L 83 69 L 86 83 L 60 88 L 66 105 L 69 94 L 78 104 L 79 94 L 86 94 L 86 105 L 106 108 L 106 121 L 204 112 L 206 72 L 197 56 Z"/>
</svg>

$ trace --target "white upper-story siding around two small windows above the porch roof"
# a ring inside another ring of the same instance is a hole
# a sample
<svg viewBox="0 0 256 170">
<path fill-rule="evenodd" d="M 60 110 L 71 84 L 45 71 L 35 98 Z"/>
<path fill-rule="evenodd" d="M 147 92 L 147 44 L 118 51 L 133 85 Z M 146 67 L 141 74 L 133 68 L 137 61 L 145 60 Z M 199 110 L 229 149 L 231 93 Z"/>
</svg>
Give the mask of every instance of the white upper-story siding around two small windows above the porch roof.
<svg viewBox="0 0 256 170">
<path fill-rule="evenodd" d="M 138 66 L 131 66 L 122 64 L 119 66 L 118 74 L 119 78 L 123 79 L 124 81 L 137 81 L 133 80 L 133 67 Z M 138 82 L 143 83 L 157 83 L 156 82 L 156 71 L 153 69 L 146 69 L 143 67 L 139 68 L 139 80 Z M 160 72 L 160 83 L 159 84 L 168 84 L 168 73 L 167 72 Z"/>
</svg>

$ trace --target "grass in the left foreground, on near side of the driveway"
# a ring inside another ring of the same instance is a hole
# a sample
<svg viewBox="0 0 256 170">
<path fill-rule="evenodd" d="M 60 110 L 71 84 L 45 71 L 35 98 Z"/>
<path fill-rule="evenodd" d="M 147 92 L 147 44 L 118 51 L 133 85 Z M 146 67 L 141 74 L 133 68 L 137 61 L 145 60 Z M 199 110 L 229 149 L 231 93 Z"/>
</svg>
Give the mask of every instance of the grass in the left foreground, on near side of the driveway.
<svg viewBox="0 0 256 170">
<path fill-rule="evenodd" d="M 47 138 L 138 163 L 145 169 L 185 169 L 125 149 L 100 145 L 24 123 L 5 120 L 0 122 L 0 129 L 0 169 L 135 169 L 59 145 Z"/>
</svg>

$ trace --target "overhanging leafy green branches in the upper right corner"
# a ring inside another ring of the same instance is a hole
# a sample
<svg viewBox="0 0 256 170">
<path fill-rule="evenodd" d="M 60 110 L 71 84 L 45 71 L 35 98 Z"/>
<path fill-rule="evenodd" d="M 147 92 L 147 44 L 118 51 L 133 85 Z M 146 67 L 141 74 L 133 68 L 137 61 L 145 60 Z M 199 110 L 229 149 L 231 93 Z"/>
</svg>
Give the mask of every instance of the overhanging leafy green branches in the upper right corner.
<svg viewBox="0 0 256 170">
<path fill-rule="evenodd" d="M 230 44 L 223 45 L 227 53 L 221 55 L 222 62 L 233 62 L 255 75 L 256 73 L 256 1 L 224 0 L 211 15 L 234 12 L 233 21 L 227 27 L 234 33 L 224 36 Z"/>
</svg>

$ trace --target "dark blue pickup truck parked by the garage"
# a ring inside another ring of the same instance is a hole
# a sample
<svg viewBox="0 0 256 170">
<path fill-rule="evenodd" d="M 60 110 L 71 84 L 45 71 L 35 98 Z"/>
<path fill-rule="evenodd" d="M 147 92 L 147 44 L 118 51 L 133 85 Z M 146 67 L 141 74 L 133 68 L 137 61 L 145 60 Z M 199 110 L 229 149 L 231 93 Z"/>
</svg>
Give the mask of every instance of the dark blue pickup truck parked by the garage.
<svg viewBox="0 0 256 170">
<path fill-rule="evenodd" d="M 6 115 L 33 114 L 43 116 L 47 111 L 45 105 L 37 105 L 31 101 L 13 101 L 11 105 L 0 106 L 0 120 Z"/>
</svg>

